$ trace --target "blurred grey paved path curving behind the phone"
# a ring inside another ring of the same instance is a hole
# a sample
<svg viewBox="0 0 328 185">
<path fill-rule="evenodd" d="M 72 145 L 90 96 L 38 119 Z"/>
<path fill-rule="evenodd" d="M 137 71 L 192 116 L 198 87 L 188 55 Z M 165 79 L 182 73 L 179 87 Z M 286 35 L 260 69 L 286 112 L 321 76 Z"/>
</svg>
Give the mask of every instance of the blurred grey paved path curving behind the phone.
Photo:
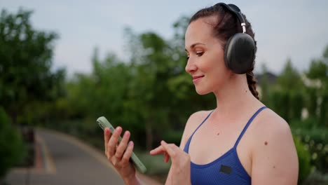
<svg viewBox="0 0 328 185">
<path fill-rule="evenodd" d="M 32 170 L 14 169 L 6 177 L 11 185 L 123 184 L 104 153 L 74 137 L 50 130 L 36 130 L 36 163 Z M 156 181 L 141 176 L 147 184 Z"/>
</svg>

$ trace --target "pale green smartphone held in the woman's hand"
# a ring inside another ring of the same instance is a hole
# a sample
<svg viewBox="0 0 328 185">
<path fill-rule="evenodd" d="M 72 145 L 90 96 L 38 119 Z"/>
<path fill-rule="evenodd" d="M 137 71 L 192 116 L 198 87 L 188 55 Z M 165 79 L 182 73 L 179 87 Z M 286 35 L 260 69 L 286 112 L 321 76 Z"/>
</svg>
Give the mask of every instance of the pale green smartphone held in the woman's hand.
<svg viewBox="0 0 328 185">
<path fill-rule="evenodd" d="M 97 118 L 97 123 L 98 123 L 98 125 L 100 125 L 100 128 L 102 128 L 102 130 L 104 130 L 104 128 L 109 128 L 109 130 L 111 130 L 111 133 L 112 134 L 114 133 L 115 128 L 113 127 L 113 125 L 111 125 L 111 123 L 109 123 L 107 118 L 105 118 L 104 116 Z M 121 142 L 121 140 L 122 140 L 122 137 L 120 136 L 120 138 L 118 139 L 118 142 Z M 137 170 L 139 170 L 139 172 L 142 172 L 142 173 L 146 172 L 146 167 L 141 162 L 141 160 L 139 160 L 139 158 L 137 157 L 137 155 L 135 155 L 134 152 L 132 152 L 132 154 L 131 154 L 130 161 L 135 166 L 135 168 L 137 168 Z"/>
</svg>

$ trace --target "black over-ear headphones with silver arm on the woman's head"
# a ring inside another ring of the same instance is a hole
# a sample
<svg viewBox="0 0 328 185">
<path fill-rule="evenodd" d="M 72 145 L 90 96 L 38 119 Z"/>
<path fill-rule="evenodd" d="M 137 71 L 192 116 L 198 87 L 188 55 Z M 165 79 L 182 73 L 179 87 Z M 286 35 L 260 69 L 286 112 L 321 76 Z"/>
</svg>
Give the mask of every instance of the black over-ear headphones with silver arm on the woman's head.
<svg viewBox="0 0 328 185">
<path fill-rule="evenodd" d="M 215 6 L 222 5 L 229 11 L 237 15 L 242 26 L 242 33 L 234 34 L 228 39 L 224 48 L 224 62 L 226 67 L 231 69 L 235 74 L 245 74 L 252 70 L 255 59 L 255 42 L 252 36 L 246 34 L 246 23 L 238 6 L 234 4 L 219 3 Z"/>
</svg>

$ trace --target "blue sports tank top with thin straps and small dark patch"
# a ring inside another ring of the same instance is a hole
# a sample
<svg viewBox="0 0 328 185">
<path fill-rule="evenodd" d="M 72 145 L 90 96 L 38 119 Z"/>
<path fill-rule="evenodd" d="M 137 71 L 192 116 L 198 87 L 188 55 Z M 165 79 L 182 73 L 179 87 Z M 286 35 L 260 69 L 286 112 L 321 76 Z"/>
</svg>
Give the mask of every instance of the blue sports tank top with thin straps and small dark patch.
<svg viewBox="0 0 328 185">
<path fill-rule="evenodd" d="M 252 116 L 252 118 L 250 118 L 250 121 L 247 122 L 245 128 L 240 133 L 233 148 L 224 153 L 224 155 L 205 165 L 198 165 L 191 162 L 191 184 L 251 184 L 251 177 L 247 174 L 244 167 L 242 167 L 236 149 L 240 139 L 242 138 L 242 135 L 244 135 L 250 123 L 252 123 L 257 114 L 259 114 L 259 112 L 265 108 L 266 107 L 261 107 L 257 112 L 255 112 L 255 114 Z M 205 118 L 202 123 L 200 123 L 198 128 L 200 128 L 200 126 L 205 123 L 211 114 L 212 112 Z M 184 146 L 184 151 L 186 153 L 189 152 L 191 138 L 198 130 L 198 128 L 196 128 L 196 130 L 186 142 L 186 146 Z"/>
</svg>

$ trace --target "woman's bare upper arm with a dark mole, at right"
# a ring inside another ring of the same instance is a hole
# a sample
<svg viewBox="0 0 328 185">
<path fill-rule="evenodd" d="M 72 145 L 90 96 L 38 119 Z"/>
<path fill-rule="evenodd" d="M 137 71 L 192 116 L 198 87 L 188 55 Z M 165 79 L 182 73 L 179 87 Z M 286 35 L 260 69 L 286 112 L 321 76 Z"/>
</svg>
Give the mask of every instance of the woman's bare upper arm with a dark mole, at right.
<svg viewBox="0 0 328 185">
<path fill-rule="evenodd" d="M 297 184 L 299 163 L 289 125 L 282 118 L 259 123 L 252 152 L 252 184 Z"/>
</svg>

